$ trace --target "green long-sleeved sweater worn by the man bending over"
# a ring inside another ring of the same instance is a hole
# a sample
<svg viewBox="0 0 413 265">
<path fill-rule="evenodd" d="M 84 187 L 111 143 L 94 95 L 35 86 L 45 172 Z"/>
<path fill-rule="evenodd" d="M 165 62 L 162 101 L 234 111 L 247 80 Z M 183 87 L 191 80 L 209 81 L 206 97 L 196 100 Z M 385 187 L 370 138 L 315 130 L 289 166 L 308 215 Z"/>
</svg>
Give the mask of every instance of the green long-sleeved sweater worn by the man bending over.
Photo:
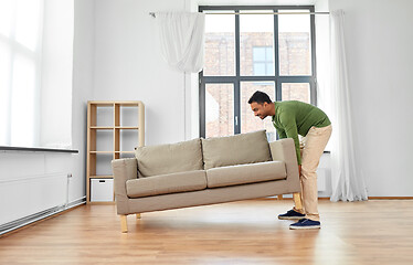
<svg viewBox="0 0 413 265">
<path fill-rule="evenodd" d="M 298 135 L 306 136 L 313 126 L 317 128 L 329 126 L 330 119 L 321 109 L 307 103 L 290 100 L 275 102 L 274 105 L 273 125 L 280 139 L 294 139 L 297 161 L 301 165 Z"/>
</svg>

